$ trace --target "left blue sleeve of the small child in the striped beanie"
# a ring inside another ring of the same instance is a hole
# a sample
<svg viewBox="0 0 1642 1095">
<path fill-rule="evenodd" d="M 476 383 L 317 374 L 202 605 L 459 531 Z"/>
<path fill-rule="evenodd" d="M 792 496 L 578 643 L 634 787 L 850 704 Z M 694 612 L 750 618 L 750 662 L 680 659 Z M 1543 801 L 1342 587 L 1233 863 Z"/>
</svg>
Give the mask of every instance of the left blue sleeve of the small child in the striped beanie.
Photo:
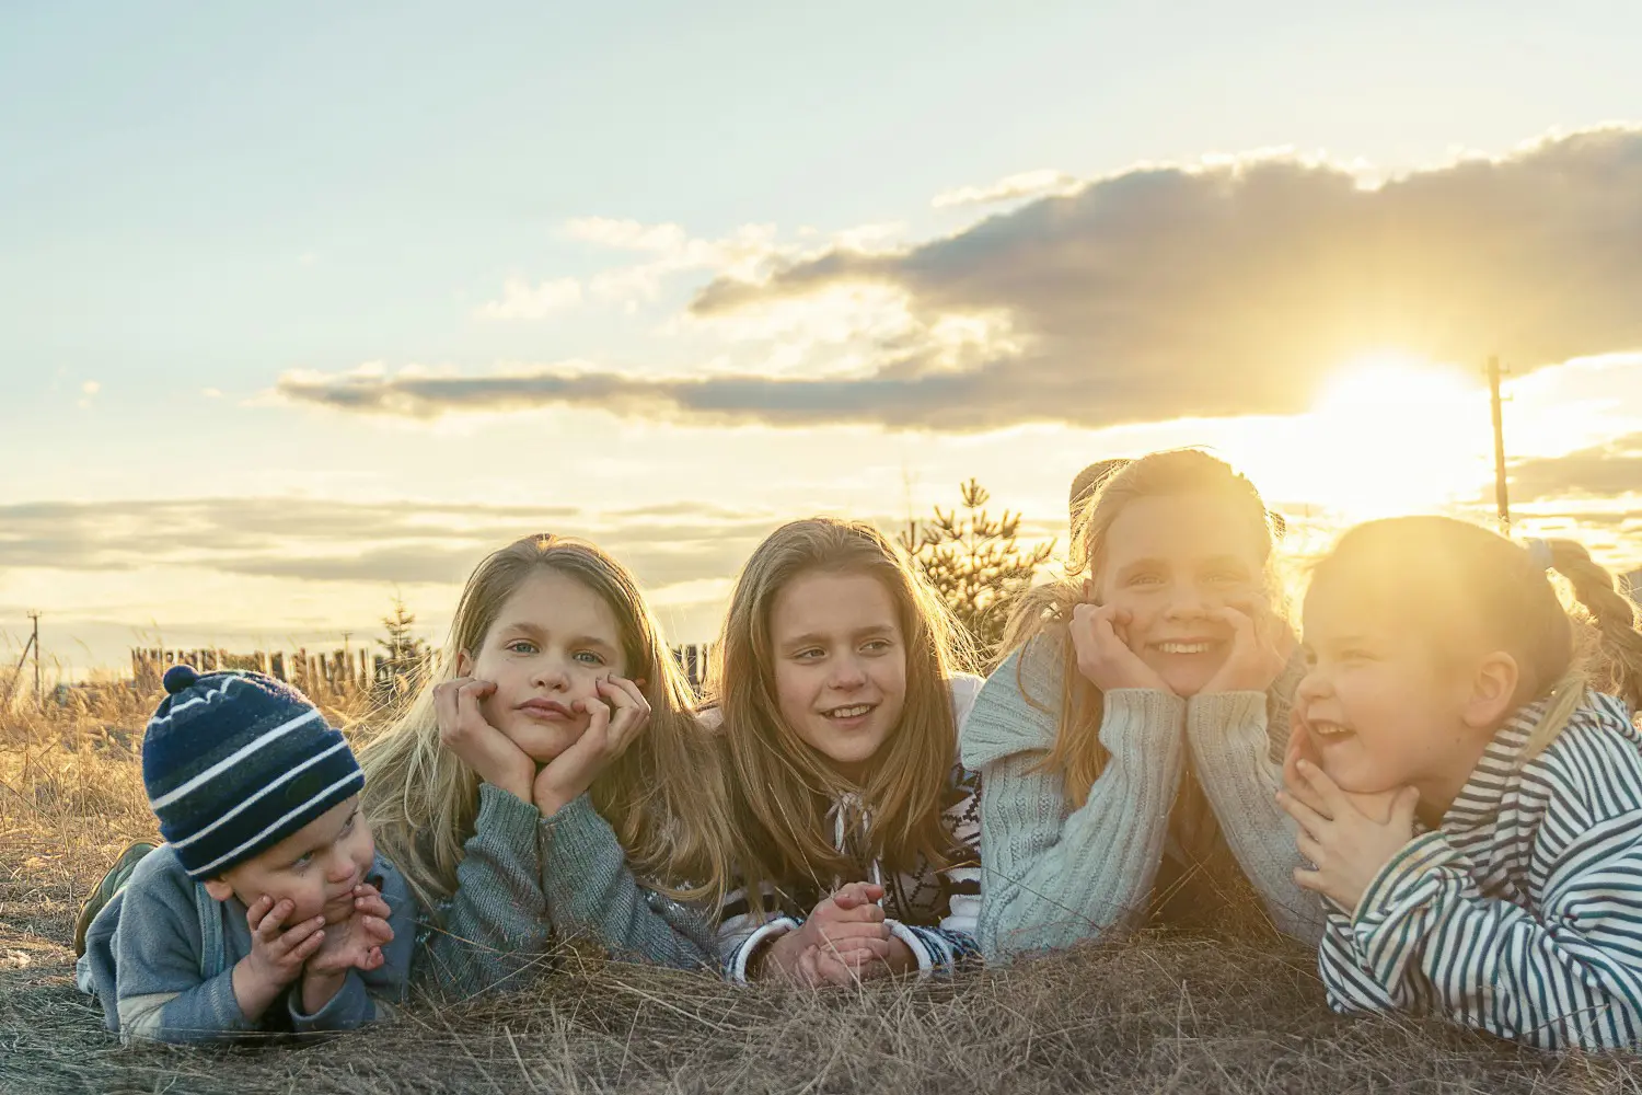
<svg viewBox="0 0 1642 1095">
<path fill-rule="evenodd" d="M 159 864 L 159 857 L 149 859 Z M 261 1016 L 248 1019 L 240 1011 L 233 965 L 209 980 L 200 977 L 200 946 L 194 883 L 181 868 L 154 872 L 148 860 L 140 864 L 125 888 L 113 937 L 122 1042 L 228 1041 L 261 1029 Z"/>
</svg>

